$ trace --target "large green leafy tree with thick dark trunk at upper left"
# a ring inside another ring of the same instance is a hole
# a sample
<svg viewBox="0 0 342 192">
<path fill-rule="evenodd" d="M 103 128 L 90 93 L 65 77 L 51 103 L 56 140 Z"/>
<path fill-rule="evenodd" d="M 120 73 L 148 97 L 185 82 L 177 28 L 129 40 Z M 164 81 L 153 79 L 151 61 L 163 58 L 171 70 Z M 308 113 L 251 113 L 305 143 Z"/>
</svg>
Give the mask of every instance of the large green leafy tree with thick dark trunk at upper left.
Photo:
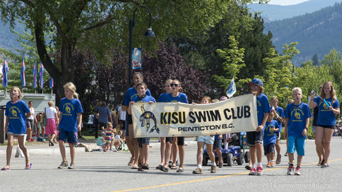
<svg viewBox="0 0 342 192">
<path fill-rule="evenodd" d="M 249 3 L 252 0 L 241 0 Z M 263 0 L 260 0 L 263 1 Z M 98 59 L 106 60 L 108 47 L 126 45 L 128 42 L 128 20 L 133 11 L 146 5 L 153 19 L 155 40 L 143 40 L 148 14 L 136 12 L 133 46 L 155 47 L 156 41 L 164 40 L 172 33 L 188 33 L 211 26 L 222 18 L 228 6 L 236 1 L 110 1 L 110 0 L 62 0 L 62 1 L 1 1 L 1 19 L 15 25 L 21 19 L 32 31 L 40 60 L 62 92 L 62 85 L 75 78 L 75 49 L 89 49 Z M 238 15 L 239 13 L 236 13 Z M 54 32 L 48 42 L 45 33 Z M 60 51 L 60 63 L 53 64 L 47 47 L 52 45 Z M 60 67 L 59 67 L 60 66 Z"/>
</svg>

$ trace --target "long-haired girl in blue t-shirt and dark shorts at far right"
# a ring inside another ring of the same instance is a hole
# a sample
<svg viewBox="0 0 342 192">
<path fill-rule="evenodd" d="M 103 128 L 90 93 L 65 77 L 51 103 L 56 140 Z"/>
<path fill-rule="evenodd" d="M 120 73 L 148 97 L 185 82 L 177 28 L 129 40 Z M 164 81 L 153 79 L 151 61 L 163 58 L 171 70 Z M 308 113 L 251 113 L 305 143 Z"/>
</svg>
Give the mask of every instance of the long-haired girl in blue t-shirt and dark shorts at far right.
<svg viewBox="0 0 342 192">
<path fill-rule="evenodd" d="M 328 159 L 330 155 L 330 141 L 335 128 L 335 115 L 339 115 L 340 113 L 339 100 L 337 100 L 334 86 L 330 81 L 326 81 L 323 84 L 321 98 L 317 97 L 314 99 L 314 92 L 311 92 L 310 95 L 310 109 L 313 109 L 316 106 L 319 108 L 315 143 L 319 152 L 323 154 L 321 167 L 325 168 L 329 167 Z"/>
</svg>

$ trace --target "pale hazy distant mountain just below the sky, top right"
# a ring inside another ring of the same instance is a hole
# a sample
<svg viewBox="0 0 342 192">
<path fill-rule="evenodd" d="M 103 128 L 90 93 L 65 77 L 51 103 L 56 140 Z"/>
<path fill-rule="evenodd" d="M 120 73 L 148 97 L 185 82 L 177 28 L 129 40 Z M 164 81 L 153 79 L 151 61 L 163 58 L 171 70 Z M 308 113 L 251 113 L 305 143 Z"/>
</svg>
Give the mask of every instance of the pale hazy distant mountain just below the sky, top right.
<svg viewBox="0 0 342 192">
<path fill-rule="evenodd" d="M 334 3 L 342 2 L 342 0 L 310 0 L 297 5 L 271 5 L 271 4 L 258 4 L 253 3 L 248 7 L 253 12 L 262 12 L 261 16 L 264 18 L 265 23 L 274 20 L 281 20 L 284 18 L 291 18 L 300 16 L 306 13 L 312 13 L 321 8 L 334 5 Z"/>
</svg>

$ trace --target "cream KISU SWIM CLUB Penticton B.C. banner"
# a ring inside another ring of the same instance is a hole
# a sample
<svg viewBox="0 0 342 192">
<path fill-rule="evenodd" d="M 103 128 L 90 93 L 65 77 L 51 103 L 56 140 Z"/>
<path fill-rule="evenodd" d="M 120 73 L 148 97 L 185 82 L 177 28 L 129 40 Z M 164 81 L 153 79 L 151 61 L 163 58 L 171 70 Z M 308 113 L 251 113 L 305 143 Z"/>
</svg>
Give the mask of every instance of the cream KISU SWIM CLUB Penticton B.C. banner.
<svg viewBox="0 0 342 192">
<path fill-rule="evenodd" d="M 134 137 L 215 135 L 256 131 L 256 97 L 237 96 L 212 104 L 137 102 L 132 105 Z"/>
</svg>

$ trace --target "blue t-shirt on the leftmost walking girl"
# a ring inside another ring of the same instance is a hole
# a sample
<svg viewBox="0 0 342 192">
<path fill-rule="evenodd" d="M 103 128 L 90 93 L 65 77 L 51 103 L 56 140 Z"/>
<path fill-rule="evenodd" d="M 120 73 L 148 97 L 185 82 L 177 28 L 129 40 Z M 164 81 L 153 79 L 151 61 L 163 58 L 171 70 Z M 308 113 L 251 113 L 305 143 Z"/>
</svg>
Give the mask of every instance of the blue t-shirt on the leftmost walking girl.
<svg viewBox="0 0 342 192">
<path fill-rule="evenodd" d="M 8 132 L 26 134 L 25 113 L 29 113 L 29 107 L 23 100 L 19 100 L 16 104 L 12 104 L 11 101 L 6 103 L 5 115 L 9 118 Z"/>
</svg>

